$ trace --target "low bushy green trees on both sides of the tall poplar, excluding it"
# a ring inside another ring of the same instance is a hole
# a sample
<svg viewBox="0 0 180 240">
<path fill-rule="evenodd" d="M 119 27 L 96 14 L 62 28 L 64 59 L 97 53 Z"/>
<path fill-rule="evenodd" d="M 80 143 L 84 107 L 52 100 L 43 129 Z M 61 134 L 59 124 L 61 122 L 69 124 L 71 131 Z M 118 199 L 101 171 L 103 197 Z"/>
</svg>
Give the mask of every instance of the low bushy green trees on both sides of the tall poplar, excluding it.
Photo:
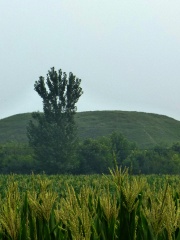
<svg viewBox="0 0 180 240">
<path fill-rule="evenodd" d="M 179 174 L 180 143 L 170 147 L 156 146 L 152 149 L 139 149 L 120 133 L 98 139 L 79 141 L 74 149 L 71 169 L 66 164 L 63 171 L 43 165 L 34 156 L 33 148 L 27 144 L 6 143 L 0 145 L 0 173 L 109 173 L 115 161 L 118 166 L 129 167 L 133 174 Z M 62 163 L 63 164 L 63 163 Z M 67 169 L 66 169 L 67 167 Z"/>
</svg>

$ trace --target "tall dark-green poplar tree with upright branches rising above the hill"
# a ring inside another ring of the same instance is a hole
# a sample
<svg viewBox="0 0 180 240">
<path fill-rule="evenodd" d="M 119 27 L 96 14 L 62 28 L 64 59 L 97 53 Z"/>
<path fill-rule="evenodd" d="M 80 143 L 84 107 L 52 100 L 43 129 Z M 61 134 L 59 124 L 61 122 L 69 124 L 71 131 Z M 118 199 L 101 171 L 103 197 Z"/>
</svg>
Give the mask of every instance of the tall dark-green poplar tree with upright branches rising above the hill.
<svg viewBox="0 0 180 240">
<path fill-rule="evenodd" d="M 77 142 L 75 125 L 76 103 L 82 95 L 81 80 L 73 73 L 54 67 L 48 71 L 46 81 L 39 77 L 34 89 L 42 98 L 43 113 L 32 113 L 27 127 L 30 146 L 38 162 L 39 171 L 64 173 L 75 165 Z"/>
</svg>

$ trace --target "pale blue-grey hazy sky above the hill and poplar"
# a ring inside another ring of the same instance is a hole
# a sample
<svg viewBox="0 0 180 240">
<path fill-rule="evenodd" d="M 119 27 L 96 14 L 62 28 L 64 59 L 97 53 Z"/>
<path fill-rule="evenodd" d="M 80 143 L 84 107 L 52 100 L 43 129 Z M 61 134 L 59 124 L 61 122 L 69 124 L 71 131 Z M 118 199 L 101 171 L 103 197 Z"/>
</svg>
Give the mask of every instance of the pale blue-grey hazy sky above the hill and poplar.
<svg viewBox="0 0 180 240">
<path fill-rule="evenodd" d="M 51 67 L 82 79 L 78 111 L 180 120 L 179 0 L 0 0 L 0 118 L 42 111 Z"/>
</svg>

